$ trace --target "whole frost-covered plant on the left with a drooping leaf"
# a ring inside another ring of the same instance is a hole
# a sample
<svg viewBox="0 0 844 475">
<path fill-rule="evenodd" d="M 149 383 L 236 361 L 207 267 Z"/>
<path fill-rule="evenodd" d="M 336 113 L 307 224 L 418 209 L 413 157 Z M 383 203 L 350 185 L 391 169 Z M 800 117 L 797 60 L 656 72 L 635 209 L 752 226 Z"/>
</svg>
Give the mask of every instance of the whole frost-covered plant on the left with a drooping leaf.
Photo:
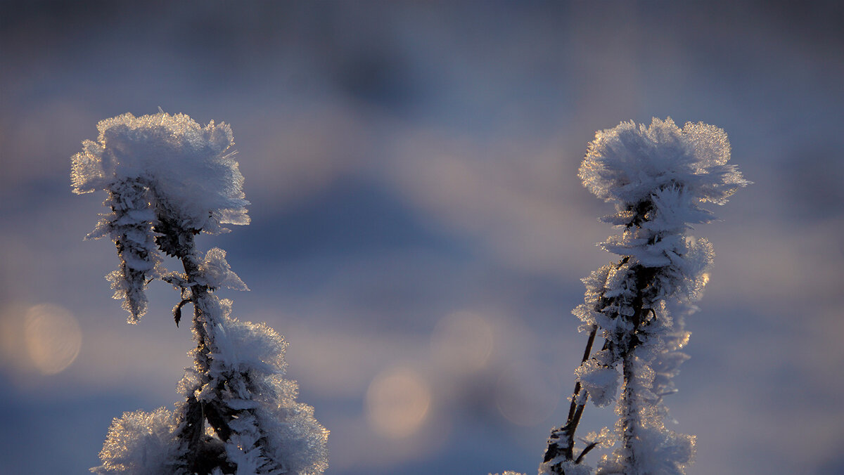
<svg viewBox="0 0 844 475">
<path fill-rule="evenodd" d="M 120 267 L 108 275 L 129 322 L 147 309 L 144 289 L 160 279 L 181 294 L 178 326 L 192 304 L 193 368 L 179 384 L 184 398 L 173 411 L 124 413 L 111 424 L 92 472 L 133 475 L 257 475 L 322 473 L 328 431 L 313 408 L 296 402 L 285 380 L 284 337 L 266 325 L 231 316 L 231 301 L 214 291 L 246 290 L 225 251 L 197 251 L 200 232 L 248 224 L 243 176 L 232 158 L 231 129 L 202 127 L 186 115 L 117 116 L 97 125 L 73 156 L 73 191 L 106 190 L 103 215 L 88 238 L 111 237 Z M 181 261 L 164 268 L 160 253 Z"/>
</svg>

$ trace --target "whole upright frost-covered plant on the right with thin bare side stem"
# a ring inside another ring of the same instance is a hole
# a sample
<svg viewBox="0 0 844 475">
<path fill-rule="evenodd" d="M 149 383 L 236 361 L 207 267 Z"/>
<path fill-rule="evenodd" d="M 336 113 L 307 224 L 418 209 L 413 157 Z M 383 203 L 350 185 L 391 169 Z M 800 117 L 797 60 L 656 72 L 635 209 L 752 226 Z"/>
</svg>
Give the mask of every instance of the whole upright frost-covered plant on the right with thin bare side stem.
<svg viewBox="0 0 844 475">
<path fill-rule="evenodd" d="M 663 397 L 675 391 L 671 380 L 687 358 L 679 352 L 690 335 L 683 315 L 696 310 L 713 256 L 708 241 L 687 233 L 714 219 L 701 204 L 723 204 L 749 183 L 729 158 L 722 129 L 680 129 L 670 118 L 647 127 L 621 122 L 589 143 L 579 176 L 614 203 L 615 213 L 602 220 L 620 234 L 601 246 L 621 258 L 583 279 L 584 303 L 573 313 L 589 335 L 587 348 L 568 418 L 552 431 L 540 473 L 592 473 L 583 458 L 602 445 L 617 447 L 598 463 L 598 475 L 679 475 L 690 465 L 695 438 L 665 427 Z M 603 347 L 593 353 L 597 336 Z M 588 435 L 576 448 L 589 398 L 598 407 L 616 402 L 619 420 L 614 431 Z"/>
</svg>

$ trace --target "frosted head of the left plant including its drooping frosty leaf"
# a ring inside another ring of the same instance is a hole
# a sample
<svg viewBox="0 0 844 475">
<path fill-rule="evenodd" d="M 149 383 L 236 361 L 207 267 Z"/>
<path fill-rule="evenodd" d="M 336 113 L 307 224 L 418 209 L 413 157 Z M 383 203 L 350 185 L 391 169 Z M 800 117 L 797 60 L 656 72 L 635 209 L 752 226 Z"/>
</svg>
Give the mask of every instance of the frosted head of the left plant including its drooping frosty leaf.
<svg viewBox="0 0 844 475">
<path fill-rule="evenodd" d="M 73 192 L 106 190 L 111 213 L 87 238 L 115 241 L 120 267 L 107 277 L 114 298 L 134 323 L 147 310 L 144 294 L 164 271 L 155 249 L 156 214 L 167 209 L 181 229 L 216 234 L 221 224 L 249 224 L 243 175 L 232 147 L 231 128 L 214 121 L 202 127 L 189 116 L 116 116 L 97 124 L 97 141 L 85 140 L 73 155 Z"/>
</svg>

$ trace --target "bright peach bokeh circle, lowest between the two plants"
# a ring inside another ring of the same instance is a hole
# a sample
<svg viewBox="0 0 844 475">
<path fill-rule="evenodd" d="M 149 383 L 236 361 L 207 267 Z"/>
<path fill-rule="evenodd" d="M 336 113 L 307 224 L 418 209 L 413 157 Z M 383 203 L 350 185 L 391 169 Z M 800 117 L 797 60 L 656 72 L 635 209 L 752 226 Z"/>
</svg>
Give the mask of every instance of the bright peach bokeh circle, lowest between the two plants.
<svg viewBox="0 0 844 475">
<path fill-rule="evenodd" d="M 367 418 L 378 434 L 407 437 L 425 422 L 430 400 L 430 385 L 414 370 L 384 370 L 366 391 Z"/>
</svg>

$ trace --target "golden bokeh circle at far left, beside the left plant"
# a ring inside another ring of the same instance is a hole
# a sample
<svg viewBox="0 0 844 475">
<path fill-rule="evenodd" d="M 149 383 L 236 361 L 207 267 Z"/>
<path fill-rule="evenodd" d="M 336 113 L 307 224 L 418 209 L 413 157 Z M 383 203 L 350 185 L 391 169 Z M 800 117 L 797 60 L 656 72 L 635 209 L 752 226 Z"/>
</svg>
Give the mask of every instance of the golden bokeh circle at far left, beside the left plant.
<svg viewBox="0 0 844 475">
<path fill-rule="evenodd" d="M 76 317 L 58 305 L 30 307 L 24 322 L 26 352 L 44 375 L 68 368 L 82 347 L 82 331 Z"/>
</svg>

